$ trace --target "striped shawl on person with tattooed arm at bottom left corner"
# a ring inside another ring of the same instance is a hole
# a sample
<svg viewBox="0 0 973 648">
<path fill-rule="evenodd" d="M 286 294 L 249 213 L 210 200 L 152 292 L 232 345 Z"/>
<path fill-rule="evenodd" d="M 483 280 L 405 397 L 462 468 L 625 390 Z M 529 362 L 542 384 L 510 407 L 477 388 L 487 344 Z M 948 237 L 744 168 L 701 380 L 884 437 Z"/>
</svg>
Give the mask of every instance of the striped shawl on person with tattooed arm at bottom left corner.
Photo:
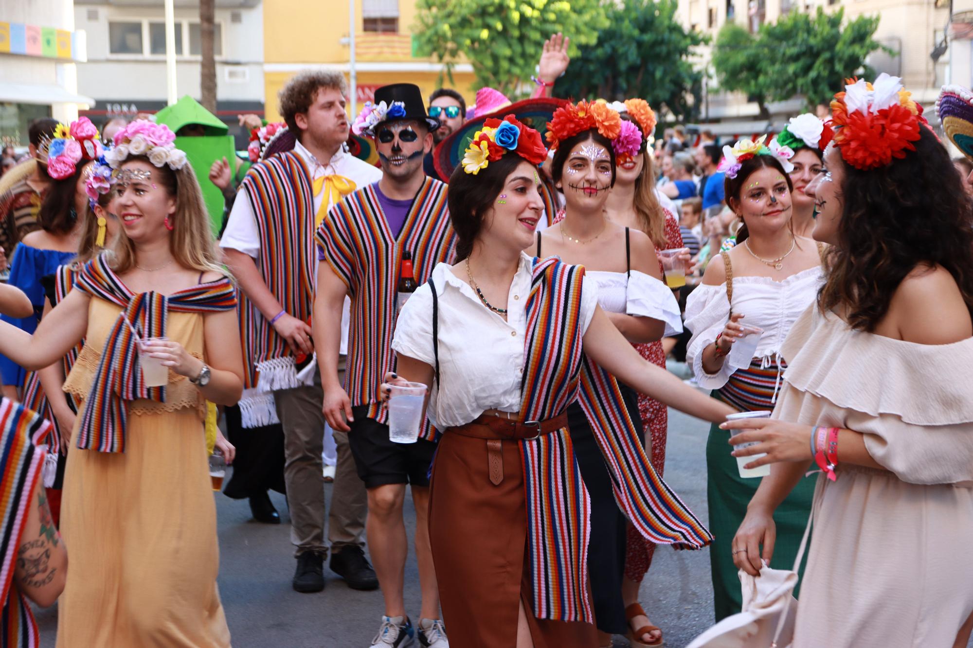
<svg viewBox="0 0 973 648">
<path fill-rule="evenodd" d="M 51 424 L 6 398 L 0 400 L 0 647 L 35 648 L 40 634 L 23 594 L 13 584 L 14 568 L 34 488 L 48 449 L 44 446 Z"/>
</svg>

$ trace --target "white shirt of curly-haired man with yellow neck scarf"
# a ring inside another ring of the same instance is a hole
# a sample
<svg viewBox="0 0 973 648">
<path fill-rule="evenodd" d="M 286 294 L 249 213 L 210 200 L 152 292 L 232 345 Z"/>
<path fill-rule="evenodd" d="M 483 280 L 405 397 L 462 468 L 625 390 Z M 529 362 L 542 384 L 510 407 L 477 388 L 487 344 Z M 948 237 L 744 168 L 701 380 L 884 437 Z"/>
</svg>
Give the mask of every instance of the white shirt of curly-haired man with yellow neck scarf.
<svg viewBox="0 0 973 648">
<path fill-rule="evenodd" d="M 350 153 L 339 149 L 331 158 L 331 162 L 321 164 L 311 155 L 301 142 L 294 145 L 294 151 L 300 155 L 310 169 L 311 180 L 324 177 L 326 175 L 342 175 L 355 183 L 356 189 L 363 189 L 366 185 L 371 185 L 381 179 L 381 169 L 363 160 L 355 158 Z M 257 229 L 257 216 L 253 213 L 250 200 L 245 196 L 246 189 L 241 187 L 234 200 L 234 208 L 230 212 L 227 221 L 227 229 L 223 232 L 220 239 L 220 247 L 237 250 L 243 254 L 258 259 L 260 257 L 260 232 Z M 325 192 L 322 191 L 314 197 L 314 213 L 321 208 Z M 332 201 L 328 202 L 328 208 L 334 206 Z M 344 298 L 344 308 L 342 314 L 342 348 L 341 353 L 347 353 L 348 346 L 348 309 L 350 303 L 348 298 Z"/>
</svg>

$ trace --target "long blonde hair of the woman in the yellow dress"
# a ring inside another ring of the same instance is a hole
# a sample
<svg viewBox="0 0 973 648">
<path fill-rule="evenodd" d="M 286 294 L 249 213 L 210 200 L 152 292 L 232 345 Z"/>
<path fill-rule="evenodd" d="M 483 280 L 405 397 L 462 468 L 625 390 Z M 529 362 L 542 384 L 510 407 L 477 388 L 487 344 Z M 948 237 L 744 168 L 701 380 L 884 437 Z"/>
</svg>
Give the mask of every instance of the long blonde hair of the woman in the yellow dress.
<svg viewBox="0 0 973 648">
<path fill-rule="evenodd" d="M 144 156 L 132 156 L 126 160 L 149 162 Z M 200 272 L 215 271 L 226 274 L 216 254 L 216 237 L 209 225 L 209 214 L 202 201 L 202 193 L 196 180 L 196 172 L 190 164 L 172 170 L 167 165 L 152 164 L 159 171 L 159 181 L 169 196 L 176 198 L 176 211 L 172 214 L 172 234 L 169 246 L 172 256 L 183 268 Z M 135 243 L 120 234 L 112 246 L 112 269 L 126 272 L 135 266 Z"/>
</svg>

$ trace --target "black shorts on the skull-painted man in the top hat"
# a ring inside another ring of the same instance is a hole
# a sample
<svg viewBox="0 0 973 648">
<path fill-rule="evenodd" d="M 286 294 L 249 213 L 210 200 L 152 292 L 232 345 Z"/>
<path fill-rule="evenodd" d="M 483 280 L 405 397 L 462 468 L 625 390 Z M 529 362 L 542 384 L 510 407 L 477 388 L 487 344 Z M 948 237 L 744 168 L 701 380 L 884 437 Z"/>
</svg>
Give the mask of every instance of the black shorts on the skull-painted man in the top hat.
<svg viewBox="0 0 973 648">
<path fill-rule="evenodd" d="M 352 408 L 351 414 L 355 419 L 348 423 L 348 445 L 366 488 L 386 484 L 429 486 L 435 442 L 419 439 L 414 444 L 397 444 L 388 438 L 388 425 L 367 416 L 367 405 Z"/>
</svg>

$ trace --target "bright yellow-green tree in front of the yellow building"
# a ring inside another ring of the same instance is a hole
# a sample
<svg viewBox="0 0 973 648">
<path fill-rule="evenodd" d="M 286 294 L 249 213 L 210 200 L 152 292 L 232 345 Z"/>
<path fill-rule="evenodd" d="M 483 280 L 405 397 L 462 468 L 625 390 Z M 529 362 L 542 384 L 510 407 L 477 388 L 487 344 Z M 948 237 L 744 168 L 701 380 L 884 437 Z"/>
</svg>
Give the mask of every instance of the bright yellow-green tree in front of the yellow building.
<svg viewBox="0 0 973 648">
<path fill-rule="evenodd" d="M 606 24 L 598 0 L 418 0 L 415 7 L 416 54 L 444 62 L 450 78 L 464 55 L 479 86 L 507 96 L 529 82 L 551 34 L 570 36 L 577 54 Z"/>
</svg>

